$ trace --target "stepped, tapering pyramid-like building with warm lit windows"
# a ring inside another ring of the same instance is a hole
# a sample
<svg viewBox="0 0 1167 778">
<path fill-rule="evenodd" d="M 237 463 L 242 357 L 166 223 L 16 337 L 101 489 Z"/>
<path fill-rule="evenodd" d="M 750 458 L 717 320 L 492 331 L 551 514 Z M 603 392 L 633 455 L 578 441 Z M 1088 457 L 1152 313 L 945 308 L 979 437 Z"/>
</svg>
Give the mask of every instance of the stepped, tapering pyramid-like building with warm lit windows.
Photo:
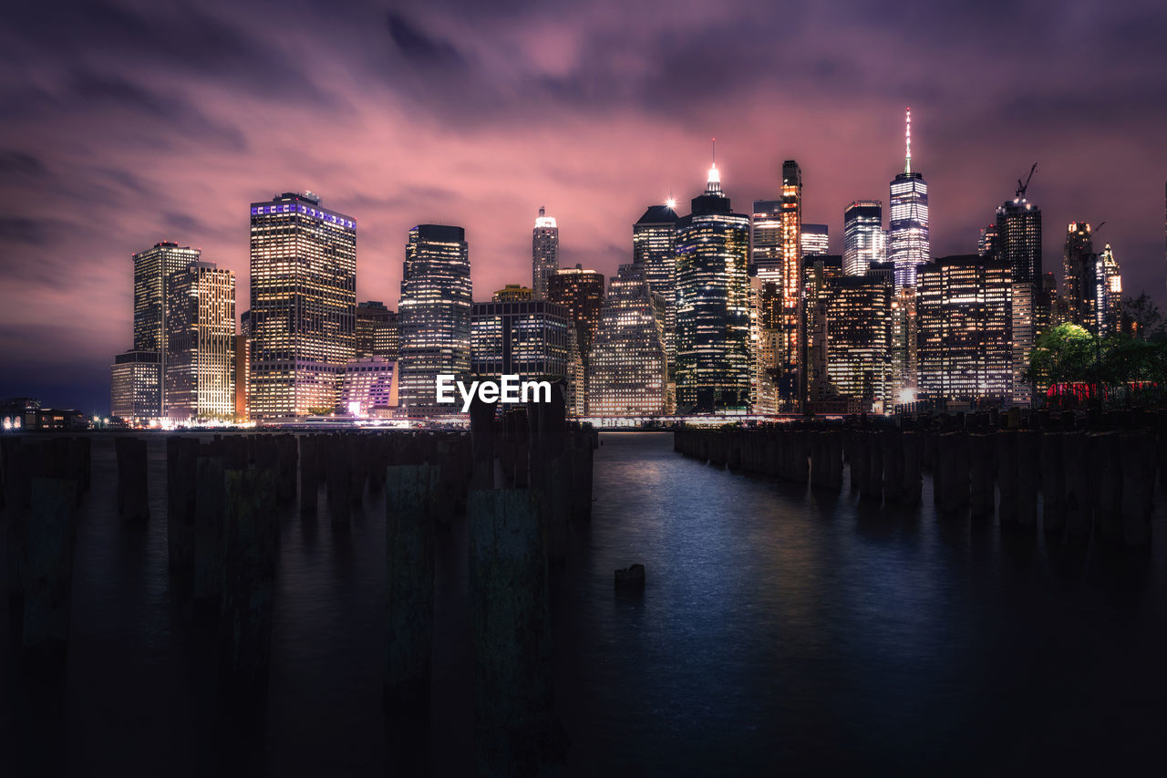
<svg viewBox="0 0 1167 778">
<path fill-rule="evenodd" d="M 654 299 L 656 298 L 656 299 Z M 641 264 L 621 265 L 608 285 L 592 345 L 588 414 L 607 418 L 668 412 L 665 306 Z"/>
</svg>

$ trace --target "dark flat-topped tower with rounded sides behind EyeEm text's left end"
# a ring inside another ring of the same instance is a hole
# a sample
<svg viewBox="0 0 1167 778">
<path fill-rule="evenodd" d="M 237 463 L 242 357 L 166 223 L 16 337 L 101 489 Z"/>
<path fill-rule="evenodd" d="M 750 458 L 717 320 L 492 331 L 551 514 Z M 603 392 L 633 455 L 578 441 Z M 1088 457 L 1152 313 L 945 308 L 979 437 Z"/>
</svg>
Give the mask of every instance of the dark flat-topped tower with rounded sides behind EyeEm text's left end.
<svg viewBox="0 0 1167 778">
<path fill-rule="evenodd" d="M 457 414 L 439 405 L 439 374 L 470 373 L 470 256 L 466 230 L 419 224 L 410 230 L 401 273 L 399 405 L 407 416 Z"/>
</svg>

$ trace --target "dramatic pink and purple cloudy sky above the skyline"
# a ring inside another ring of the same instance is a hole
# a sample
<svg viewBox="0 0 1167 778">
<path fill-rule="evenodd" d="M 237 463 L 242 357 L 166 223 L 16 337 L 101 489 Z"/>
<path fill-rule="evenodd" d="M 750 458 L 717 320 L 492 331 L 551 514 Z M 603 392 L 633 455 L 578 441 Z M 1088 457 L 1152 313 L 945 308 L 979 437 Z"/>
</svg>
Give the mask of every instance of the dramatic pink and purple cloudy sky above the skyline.
<svg viewBox="0 0 1167 778">
<path fill-rule="evenodd" d="M 540 204 L 565 264 L 698 194 L 710 138 L 738 210 L 803 168 L 808 222 L 887 201 L 913 107 L 936 255 L 1039 162 L 1044 266 L 1105 220 L 1163 301 L 1167 11 L 1141 2 L 492 0 L 26 2 L 0 21 L 0 397 L 104 412 L 131 345 L 131 255 L 236 271 L 247 206 L 312 189 L 357 220 L 357 294 L 396 306 L 406 232 L 466 227 L 477 299 L 530 283 Z M 684 208 L 682 208 L 684 210 Z"/>
</svg>

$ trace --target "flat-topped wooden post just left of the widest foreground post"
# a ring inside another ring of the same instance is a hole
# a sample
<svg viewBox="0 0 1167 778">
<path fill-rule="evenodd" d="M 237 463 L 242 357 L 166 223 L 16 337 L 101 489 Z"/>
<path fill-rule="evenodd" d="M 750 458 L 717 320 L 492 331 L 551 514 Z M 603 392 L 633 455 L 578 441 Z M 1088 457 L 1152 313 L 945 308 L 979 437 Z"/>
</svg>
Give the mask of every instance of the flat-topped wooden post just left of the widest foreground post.
<svg viewBox="0 0 1167 778">
<path fill-rule="evenodd" d="M 441 488 L 434 465 L 385 471 L 385 554 L 389 631 L 384 701 L 396 714 L 427 718 L 434 634 L 433 508 Z"/>
</svg>

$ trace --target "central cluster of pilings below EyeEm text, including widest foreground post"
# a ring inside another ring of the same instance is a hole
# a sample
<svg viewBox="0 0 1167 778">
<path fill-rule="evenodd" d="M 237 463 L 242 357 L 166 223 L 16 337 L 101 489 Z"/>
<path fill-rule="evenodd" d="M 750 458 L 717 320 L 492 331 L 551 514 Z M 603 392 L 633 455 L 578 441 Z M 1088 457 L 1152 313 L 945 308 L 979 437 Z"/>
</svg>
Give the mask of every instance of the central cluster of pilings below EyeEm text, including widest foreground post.
<svg viewBox="0 0 1167 778">
<path fill-rule="evenodd" d="M 598 438 L 552 402 L 496 416 L 470 409 L 474 452 L 470 626 L 482 774 L 529 776 L 566 755 L 554 715 L 548 570 L 567 555 L 568 525 L 592 515 Z"/>
</svg>

